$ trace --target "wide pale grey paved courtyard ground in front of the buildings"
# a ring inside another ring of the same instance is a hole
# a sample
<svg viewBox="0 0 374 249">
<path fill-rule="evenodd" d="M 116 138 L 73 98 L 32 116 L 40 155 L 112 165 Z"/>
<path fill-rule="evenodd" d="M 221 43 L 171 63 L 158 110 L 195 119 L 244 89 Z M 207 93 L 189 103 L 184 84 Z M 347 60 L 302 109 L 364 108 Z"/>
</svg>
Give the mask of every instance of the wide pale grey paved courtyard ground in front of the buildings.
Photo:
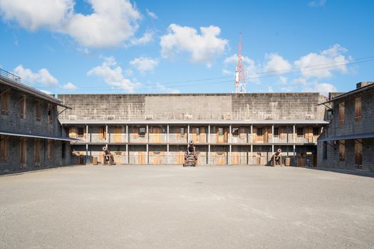
<svg viewBox="0 0 374 249">
<path fill-rule="evenodd" d="M 0 248 L 373 248 L 374 178 L 266 166 L 0 177 Z"/>
</svg>

